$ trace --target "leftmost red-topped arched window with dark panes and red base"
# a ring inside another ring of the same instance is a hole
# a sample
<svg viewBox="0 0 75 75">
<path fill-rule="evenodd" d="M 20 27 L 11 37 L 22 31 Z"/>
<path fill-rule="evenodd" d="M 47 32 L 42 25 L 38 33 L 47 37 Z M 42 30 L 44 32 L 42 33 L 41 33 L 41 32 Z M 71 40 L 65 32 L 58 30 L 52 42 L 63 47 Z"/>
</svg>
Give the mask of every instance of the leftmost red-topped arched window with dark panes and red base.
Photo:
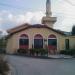
<svg viewBox="0 0 75 75">
<path fill-rule="evenodd" d="M 19 39 L 19 48 L 20 49 L 28 49 L 28 47 L 29 47 L 28 35 L 22 34 Z"/>
</svg>

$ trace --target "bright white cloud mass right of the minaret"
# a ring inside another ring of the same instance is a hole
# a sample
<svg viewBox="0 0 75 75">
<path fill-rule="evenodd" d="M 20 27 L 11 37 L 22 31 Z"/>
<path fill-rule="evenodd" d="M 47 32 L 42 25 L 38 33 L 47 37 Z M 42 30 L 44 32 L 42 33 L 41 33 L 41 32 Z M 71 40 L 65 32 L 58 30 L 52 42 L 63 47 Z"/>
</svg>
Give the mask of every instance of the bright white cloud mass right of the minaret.
<svg viewBox="0 0 75 75">
<path fill-rule="evenodd" d="M 58 0 L 53 5 L 53 15 L 57 16 L 56 29 L 71 31 L 75 24 L 75 1 Z"/>
</svg>

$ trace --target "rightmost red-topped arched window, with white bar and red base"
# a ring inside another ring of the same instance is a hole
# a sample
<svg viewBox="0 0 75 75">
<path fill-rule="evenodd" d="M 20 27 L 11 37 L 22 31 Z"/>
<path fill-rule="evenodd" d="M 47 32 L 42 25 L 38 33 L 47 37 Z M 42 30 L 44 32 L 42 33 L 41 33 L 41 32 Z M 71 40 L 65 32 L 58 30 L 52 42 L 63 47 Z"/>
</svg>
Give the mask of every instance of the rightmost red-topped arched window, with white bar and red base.
<svg viewBox="0 0 75 75">
<path fill-rule="evenodd" d="M 57 50 L 57 38 L 54 34 L 48 36 L 48 51 L 49 54 L 55 54 Z"/>
</svg>

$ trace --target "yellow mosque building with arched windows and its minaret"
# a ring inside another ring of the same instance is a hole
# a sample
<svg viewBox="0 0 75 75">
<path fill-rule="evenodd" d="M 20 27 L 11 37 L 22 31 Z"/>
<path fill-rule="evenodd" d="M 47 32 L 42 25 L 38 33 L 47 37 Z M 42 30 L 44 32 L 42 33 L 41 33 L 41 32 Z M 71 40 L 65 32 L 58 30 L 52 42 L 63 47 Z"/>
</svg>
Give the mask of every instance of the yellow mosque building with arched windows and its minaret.
<svg viewBox="0 0 75 75">
<path fill-rule="evenodd" d="M 41 24 L 22 24 L 7 30 L 7 53 L 16 53 L 18 49 L 45 48 L 50 51 L 59 52 L 65 49 L 75 49 L 75 36 L 66 35 L 62 31 L 53 29 L 56 17 L 52 17 L 51 1 L 46 1 L 46 16 Z"/>
</svg>

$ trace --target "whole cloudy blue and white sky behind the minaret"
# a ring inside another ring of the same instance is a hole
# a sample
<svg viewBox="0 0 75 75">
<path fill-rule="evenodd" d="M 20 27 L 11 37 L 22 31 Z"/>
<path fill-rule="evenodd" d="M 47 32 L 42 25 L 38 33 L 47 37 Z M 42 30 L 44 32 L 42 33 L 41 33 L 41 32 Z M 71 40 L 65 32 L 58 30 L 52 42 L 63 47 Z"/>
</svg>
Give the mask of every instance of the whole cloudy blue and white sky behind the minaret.
<svg viewBox="0 0 75 75">
<path fill-rule="evenodd" d="M 0 0 L 0 30 L 23 23 L 41 23 L 46 0 Z M 70 32 L 75 25 L 75 0 L 51 0 L 52 16 L 57 17 L 55 29 Z"/>
</svg>

